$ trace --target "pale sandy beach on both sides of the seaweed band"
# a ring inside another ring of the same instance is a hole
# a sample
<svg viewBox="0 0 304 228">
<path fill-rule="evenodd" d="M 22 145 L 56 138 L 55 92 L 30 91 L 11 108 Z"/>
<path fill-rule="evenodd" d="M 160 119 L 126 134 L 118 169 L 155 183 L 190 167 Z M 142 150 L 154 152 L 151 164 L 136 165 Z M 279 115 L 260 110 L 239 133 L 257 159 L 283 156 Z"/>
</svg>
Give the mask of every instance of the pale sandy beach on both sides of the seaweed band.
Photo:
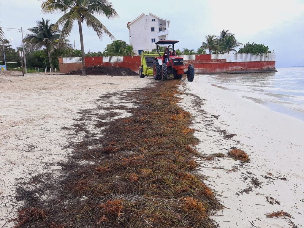
<svg viewBox="0 0 304 228">
<path fill-rule="evenodd" d="M 94 108 L 100 95 L 141 88 L 151 81 L 138 76 L 50 74 L 0 78 L 0 227 L 13 226 L 7 221 L 20 206 L 14 199 L 18 178 L 61 168 L 56 162 L 66 160 L 69 150 L 63 147 L 70 140 L 62 127 L 71 126 L 79 110 Z M 214 216 L 219 226 L 301 227 L 304 122 L 208 84 L 204 75 L 184 81 L 180 90 L 184 94 L 179 95 L 179 105 L 194 116 L 192 127 L 202 154 L 227 154 L 237 147 L 250 157 L 245 164 L 228 157 L 200 161 L 200 172 L 209 177 L 207 183 L 225 207 Z M 236 136 L 225 138 L 223 130 Z M 242 192 L 250 187 L 252 191 Z M 272 205 L 266 197 L 280 204 Z M 290 221 L 266 218 L 281 210 L 292 216 Z"/>
</svg>

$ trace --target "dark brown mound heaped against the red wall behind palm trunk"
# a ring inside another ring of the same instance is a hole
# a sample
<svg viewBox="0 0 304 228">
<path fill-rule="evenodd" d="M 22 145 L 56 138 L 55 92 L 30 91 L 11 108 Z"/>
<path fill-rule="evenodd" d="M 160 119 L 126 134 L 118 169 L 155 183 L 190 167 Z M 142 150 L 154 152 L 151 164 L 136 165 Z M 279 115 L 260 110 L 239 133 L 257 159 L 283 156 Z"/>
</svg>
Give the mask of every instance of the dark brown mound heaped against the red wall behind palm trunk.
<svg viewBox="0 0 304 228">
<path fill-rule="evenodd" d="M 77 69 L 70 71 L 67 74 L 81 74 L 82 69 Z M 131 71 L 130 68 L 126 67 L 106 67 L 106 66 L 96 66 L 96 67 L 86 67 L 85 73 L 87 75 L 112 75 L 112 76 L 131 76 L 138 75 L 136 72 Z"/>
</svg>

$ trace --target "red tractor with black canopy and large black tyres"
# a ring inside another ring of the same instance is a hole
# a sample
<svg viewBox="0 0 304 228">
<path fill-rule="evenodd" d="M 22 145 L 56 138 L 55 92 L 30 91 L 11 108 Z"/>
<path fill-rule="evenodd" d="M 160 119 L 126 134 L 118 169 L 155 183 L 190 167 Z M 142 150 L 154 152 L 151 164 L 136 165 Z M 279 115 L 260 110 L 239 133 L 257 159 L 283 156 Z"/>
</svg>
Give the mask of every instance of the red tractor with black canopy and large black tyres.
<svg viewBox="0 0 304 228">
<path fill-rule="evenodd" d="M 189 65 L 188 70 L 184 71 L 184 59 L 182 57 L 176 56 L 174 50 L 174 44 L 178 43 L 177 40 L 160 40 L 157 41 L 156 50 L 159 54 L 155 57 L 153 62 L 153 77 L 155 80 L 166 80 L 168 76 L 173 75 L 176 79 L 181 79 L 183 74 L 187 74 L 188 81 L 193 81 L 194 79 L 194 65 Z M 159 53 L 158 45 L 172 45 L 172 52 L 166 48 L 163 56 Z"/>
</svg>

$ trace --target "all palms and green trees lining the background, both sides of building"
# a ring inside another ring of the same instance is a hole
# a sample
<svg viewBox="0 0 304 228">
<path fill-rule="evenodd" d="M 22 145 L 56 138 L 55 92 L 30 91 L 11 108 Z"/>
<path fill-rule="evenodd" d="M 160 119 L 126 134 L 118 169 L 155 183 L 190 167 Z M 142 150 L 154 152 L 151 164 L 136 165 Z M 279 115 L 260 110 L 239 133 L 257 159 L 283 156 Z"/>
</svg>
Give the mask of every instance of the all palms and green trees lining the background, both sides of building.
<svg viewBox="0 0 304 228">
<path fill-rule="evenodd" d="M 37 21 L 36 26 L 28 29 L 31 34 L 24 38 L 26 46 L 27 66 L 47 67 L 54 69 L 58 67 L 58 57 L 76 57 L 82 58 L 82 75 L 85 75 L 85 56 L 123 56 L 134 55 L 134 49 L 125 41 L 114 40 L 108 44 L 103 52 L 84 52 L 84 42 L 82 34 L 82 25 L 86 23 L 89 28 L 92 28 L 97 36 L 102 39 L 103 35 L 115 39 L 112 33 L 100 22 L 95 15 L 105 16 L 108 19 L 118 17 L 117 12 L 113 9 L 112 4 L 106 0 L 42 0 L 42 12 L 44 13 L 61 13 L 61 17 L 56 23 L 50 23 L 49 20 L 42 19 Z M 74 50 L 67 40 L 71 33 L 73 24 L 78 24 L 81 50 Z M 61 29 L 59 29 L 61 27 Z M 14 59 L 19 59 L 18 50 L 11 48 L 9 41 L 4 39 L 4 33 L 0 28 L 0 45 L 4 45 L 5 53 L 8 52 L 7 61 L 13 62 Z M 206 42 L 197 50 L 183 48 L 176 50 L 180 54 L 209 54 L 213 53 L 230 53 L 236 51 L 235 48 L 240 47 L 241 43 L 237 42 L 235 35 L 229 30 L 223 29 L 219 36 L 208 35 Z M 1 48 L 0 48 L 1 50 Z M 243 48 L 240 48 L 238 53 L 265 53 L 270 52 L 268 46 L 263 44 L 247 43 Z M 3 55 L 1 56 L 3 59 Z M 0 58 L 0 59 L 1 59 Z M 12 67 L 12 66 L 9 66 Z M 9 68 L 8 67 L 8 68 Z"/>
</svg>

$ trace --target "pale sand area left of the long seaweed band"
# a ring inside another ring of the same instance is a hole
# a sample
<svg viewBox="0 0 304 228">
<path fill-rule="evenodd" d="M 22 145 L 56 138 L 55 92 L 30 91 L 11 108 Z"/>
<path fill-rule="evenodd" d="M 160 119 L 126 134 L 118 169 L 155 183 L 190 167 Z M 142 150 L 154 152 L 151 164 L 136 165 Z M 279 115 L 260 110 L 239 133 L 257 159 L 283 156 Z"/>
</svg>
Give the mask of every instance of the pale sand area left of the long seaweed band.
<svg viewBox="0 0 304 228">
<path fill-rule="evenodd" d="M 0 227 L 18 207 L 12 197 L 16 178 L 61 168 L 55 163 L 68 154 L 62 149 L 68 140 L 62 127 L 74 123 L 78 110 L 94 108 L 99 95 L 150 81 L 138 76 L 50 74 L 0 78 Z"/>
</svg>

